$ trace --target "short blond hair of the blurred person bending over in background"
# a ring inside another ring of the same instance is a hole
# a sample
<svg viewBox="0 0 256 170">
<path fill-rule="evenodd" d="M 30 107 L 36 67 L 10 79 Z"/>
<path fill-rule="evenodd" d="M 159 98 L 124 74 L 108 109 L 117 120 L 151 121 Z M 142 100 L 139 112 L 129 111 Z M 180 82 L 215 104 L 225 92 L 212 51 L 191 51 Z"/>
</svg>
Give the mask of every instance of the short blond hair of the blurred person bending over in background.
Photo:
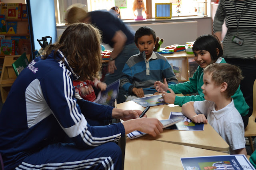
<svg viewBox="0 0 256 170">
<path fill-rule="evenodd" d="M 83 22 L 87 15 L 88 13 L 83 8 L 74 6 L 67 11 L 66 21 L 68 24 Z"/>
</svg>

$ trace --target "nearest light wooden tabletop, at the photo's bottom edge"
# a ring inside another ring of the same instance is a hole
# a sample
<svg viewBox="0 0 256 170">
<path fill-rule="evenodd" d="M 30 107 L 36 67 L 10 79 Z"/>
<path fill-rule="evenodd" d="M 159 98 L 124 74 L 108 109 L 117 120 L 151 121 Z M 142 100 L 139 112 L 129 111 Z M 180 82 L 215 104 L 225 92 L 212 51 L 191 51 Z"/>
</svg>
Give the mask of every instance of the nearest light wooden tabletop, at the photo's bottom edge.
<svg viewBox="0 0 256 170">
<path fill-rule="evenodd" d="M 214 155 L 227 154 L 157 140 L 127 138 L 124 170 L 183 170 L 180 158 Z"/>
</svg>

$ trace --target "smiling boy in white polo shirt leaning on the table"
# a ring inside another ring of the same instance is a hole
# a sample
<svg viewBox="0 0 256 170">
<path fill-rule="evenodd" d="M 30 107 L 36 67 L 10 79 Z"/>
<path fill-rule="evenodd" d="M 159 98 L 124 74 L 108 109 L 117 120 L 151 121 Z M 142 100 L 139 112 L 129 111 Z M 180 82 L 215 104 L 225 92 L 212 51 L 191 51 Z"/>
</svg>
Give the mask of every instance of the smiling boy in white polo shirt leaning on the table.
<svg viewBox="0 0 256 170">
<path fill-rule="evenodd" d="M 227 63 L 208 65 L 204 68 L 201 87 L 205 100 L 183 104 L 182 113 L 193 122 L 208 122 L 228 143 L 231 154 L 247 156 L 243 120 L 231 98 L 243 78 L 237 66 Z"/>
</svg>

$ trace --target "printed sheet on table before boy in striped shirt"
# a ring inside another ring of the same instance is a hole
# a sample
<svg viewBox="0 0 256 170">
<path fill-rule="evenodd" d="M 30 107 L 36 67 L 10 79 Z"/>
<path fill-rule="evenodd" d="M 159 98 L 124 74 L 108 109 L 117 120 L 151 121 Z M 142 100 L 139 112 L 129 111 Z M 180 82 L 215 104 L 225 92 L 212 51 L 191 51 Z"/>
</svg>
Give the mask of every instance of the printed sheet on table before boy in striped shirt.
<svg viewBox="0 0 256 170">
<path fill-rule="evenodd" d="M 146 107 L 146 106 L 158 106 L 162 104 L 169 104 L 164 101 L 164 98 L 162 97 L 162 94 L 159 95 L 152 95 L 144 98 L 138 98 L 132 100 L 139 104 L 140 106 Z"/>
</svg>

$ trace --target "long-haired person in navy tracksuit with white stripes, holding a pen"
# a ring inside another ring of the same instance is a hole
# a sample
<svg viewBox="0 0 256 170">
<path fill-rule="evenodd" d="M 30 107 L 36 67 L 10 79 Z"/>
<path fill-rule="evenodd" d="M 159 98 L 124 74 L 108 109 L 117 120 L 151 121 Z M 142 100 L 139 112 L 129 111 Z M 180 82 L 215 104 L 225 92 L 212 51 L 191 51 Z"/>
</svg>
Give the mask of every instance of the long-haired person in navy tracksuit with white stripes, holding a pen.
<svg viewBox="0 0 256 170">
<path fill-rule="evenodd" d="M 120 170 L 122 153 L 113 141 L 134 130 L 153 136 L 163 131 L 159 120 L 139 118 L 139 110 L 117 109 L 78 96 L 72 81 L 97 78 L 100 51 L 98 29 L 72 24 L 47 47 L 44 57 L 22 70 L 0 113 L 5 170 Z M 96 122 L 112 118 L 129 121 L 108 126 Z"/>
</svg>

